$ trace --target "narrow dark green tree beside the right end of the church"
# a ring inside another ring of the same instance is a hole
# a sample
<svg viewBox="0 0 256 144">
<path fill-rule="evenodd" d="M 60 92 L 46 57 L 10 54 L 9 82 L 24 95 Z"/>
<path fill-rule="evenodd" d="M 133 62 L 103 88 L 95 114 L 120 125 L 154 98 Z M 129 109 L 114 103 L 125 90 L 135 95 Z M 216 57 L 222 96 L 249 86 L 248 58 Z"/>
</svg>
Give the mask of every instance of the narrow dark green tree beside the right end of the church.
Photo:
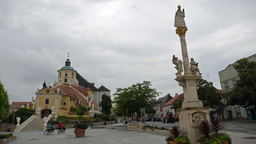
<svg viewBox="0 0 256 144">
<path fill-rule="evenodd" d="M 110 96 L 103 93 L 102 100 L 100 102 L 100 106 L 102 108 L 102 112 L 105 113 L 105 115 L 110 115 L 111 108 L 112 108 L 112 100 L 111 100 Z"/>
</svg>

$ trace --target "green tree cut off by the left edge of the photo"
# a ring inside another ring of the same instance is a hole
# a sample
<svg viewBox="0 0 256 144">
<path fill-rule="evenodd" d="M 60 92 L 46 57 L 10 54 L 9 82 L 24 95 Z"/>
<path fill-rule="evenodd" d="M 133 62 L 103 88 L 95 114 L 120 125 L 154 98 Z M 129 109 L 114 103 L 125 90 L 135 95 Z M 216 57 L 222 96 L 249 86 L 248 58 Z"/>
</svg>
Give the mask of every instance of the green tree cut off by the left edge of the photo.
<svg viewBox="0 0 256 144">
<path fill-rule="evenodd" d="M 0 120 L 5 119 L 9 115 L 10 104 L 7 91 L 0 81 Z"/>
</svg>

